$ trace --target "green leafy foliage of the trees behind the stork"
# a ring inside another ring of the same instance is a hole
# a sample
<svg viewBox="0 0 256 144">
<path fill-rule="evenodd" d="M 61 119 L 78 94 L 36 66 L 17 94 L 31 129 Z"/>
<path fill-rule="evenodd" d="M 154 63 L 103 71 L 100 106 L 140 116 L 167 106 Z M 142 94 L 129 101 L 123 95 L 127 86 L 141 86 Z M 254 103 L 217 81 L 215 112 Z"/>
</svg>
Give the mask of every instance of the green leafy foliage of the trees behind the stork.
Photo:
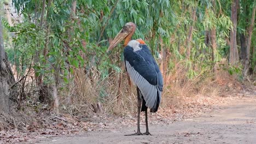
<svg viewBox="0 0 256 144">
<path fill-rule="evenodd" d="M 161 61 L 161 51 L 167 51 L 167 71 L 171 73 L 177 61 L 185 61 L 187 76 L 193 78 L 200 73 L 210 73 L 214 63 L 228 57 L 229 37 L 232 23 L 230 21 L 231 1 L 146 1 L 146 0 L 77 0 L 75 17 L 72 18 L 73 0 L 54 0 L 45 4 L 43 26 L 39 23 L 43 1 L 13 0 L 19 14 L 24 16 L 21 23 L 9 27 L 14 32 L 14 49 L 8 50 L 11 62 L 21 68 L 21 72 L 30 64 L 37 75 L 44 75 L 45 83 L 56 82 L 61 77 L 64 83 L 72 81 L 74 68 L 84 68 L 90 73 L 92 67 L 101 78 L 109 72 L 121 73 L 123 45 L 115 49 L 117 55 L 107 55 L 108 39 L 114 38 L 126 22 L 137 25 L 133 39 L 146 41 L 153 55 Z M 252 0 L 250 0 L 252 2 Z M 245 32 L 248 26 L 245 20 L 249 2 L 242 3 L 238 31 Z M 191 11 L 195 9 L 196 20 L 193 22 Z M 189 27 L 193 25 L 191 55 L 187 59 L 187 37 Z M 216 28 L 217 52 L 212 60 L 211 45 L 206 44 L 206 31 Z M 255 38 L 255 34 L 253 36 Z M 255 43 L 255 41 L 253 42 Z M 255 44 L 254 44 L 255 45 Z M 44 55 L 44 50 L 47 50 Z M 34 63 L 36 51 L 39 51 L 39 62 Z M 255 59 L 256 56 L 253 58 Z M 22 67 L 20 67 L 22 66 Z M 230 74 L 239 69 L 230 68 Z M 167 73 L 167 74 L 168 74 Z M 71 77 L 69 77 L 71 75 Z"/>
</svg>

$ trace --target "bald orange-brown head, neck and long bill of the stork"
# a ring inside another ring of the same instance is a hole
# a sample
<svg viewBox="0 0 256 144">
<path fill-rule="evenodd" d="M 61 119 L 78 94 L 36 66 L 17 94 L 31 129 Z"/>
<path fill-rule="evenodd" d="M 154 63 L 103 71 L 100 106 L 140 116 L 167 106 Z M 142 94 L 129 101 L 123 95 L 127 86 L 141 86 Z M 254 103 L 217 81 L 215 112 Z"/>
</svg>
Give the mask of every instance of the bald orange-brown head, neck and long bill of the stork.
<svg viewBox="0 0 256 144">
<path fill-rule="evenodd" d="M 112 50 L 115 46 L 117 46 L 124 39 L 125 39 L 124 45 L 126 46 L 127 43 L 131 40 L 131 37 L 132 37 L 133 33 L 135 32 L 135 30 L 136 30 L 135 23 L 133 23 L 133 22 L 125 23 L 125 25 L 123 26 L 121 31 L 117 34 L 117 36 L 115 36 L 113 41 L 110 43 L 107 52 Z"/>
</svg>

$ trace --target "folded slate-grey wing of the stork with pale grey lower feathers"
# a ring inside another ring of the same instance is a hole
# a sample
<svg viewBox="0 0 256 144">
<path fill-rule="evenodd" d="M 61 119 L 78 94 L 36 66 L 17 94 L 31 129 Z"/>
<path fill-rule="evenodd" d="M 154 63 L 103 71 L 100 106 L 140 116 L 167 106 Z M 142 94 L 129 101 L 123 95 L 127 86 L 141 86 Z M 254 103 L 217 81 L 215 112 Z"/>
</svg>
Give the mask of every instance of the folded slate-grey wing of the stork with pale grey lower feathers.
<svg viewBox="0 0 256 144">
<path fill-rule="evenodd" d="M 146 101 L 146 106 L 157 110 L 161 99 L 158 81 L 162 81 L 162 78 L 159 78 L 156 70 L 157 68 L 159 71 L 158 65 L 155 63 L 155 59 L 148 50 L 147 45 L 139 45 L 139 47 L 142 49 L 136 52 L 130 46 L 125 47 L 126 70 L 133 83 L 140 89 Z"/>
</svg>

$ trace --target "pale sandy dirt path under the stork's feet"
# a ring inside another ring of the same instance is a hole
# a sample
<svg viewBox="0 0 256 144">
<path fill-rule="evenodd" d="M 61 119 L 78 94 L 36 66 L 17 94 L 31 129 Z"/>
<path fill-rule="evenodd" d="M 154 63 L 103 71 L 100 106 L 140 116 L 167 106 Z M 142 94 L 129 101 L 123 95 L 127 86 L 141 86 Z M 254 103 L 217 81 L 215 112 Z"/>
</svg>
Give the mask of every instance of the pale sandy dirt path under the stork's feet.
<svg viewBox="0 0 256 144">
<path fill-rule="evenodd" d="M 142 125 L 142 131 L 145 131 Z M 231 105 L 201 117 L 167 125 L 150 125 L 152 136 L 124 136 L 136 127 L 85 136 L 51 137 L 46 143 L 256 143 L 256 97 L 239 98 Z"/>
</svg>

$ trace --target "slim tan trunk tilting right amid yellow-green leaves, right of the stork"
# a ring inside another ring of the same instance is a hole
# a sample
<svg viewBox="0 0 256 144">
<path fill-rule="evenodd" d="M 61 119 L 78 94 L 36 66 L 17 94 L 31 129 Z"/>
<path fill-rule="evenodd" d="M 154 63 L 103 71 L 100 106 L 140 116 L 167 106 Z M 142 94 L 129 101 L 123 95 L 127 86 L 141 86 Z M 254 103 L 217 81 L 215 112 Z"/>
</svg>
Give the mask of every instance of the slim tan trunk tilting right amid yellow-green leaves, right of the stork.
<svg viewBox="0 0 256 144">
<path fill-rule="evenodd" d="M 188 37 L 187 37 L 187 40 L 186 40 L 186 43 L 187 43 L 187 58 L 190 57 L 191 41 L 192 41 L 192 36 L 193 36 L 193 27 L 194 27 L 194 23 L 195 23 L 195 19 L 196 19 L 196 8 L 192 8 L 191 17 L 192 17 L 193 22 L 191 23 L 191 26 L 189 27 L 189 33 L 188 33 Z"/>
</svg>

